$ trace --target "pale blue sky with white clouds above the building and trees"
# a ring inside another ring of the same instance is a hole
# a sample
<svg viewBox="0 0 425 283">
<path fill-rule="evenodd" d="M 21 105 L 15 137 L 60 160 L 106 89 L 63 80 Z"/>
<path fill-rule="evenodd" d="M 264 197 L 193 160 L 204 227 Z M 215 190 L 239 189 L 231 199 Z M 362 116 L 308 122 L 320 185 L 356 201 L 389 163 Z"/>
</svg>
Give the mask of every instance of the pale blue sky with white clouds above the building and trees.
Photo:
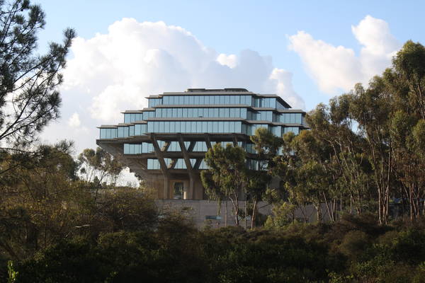
<svg viewBox="0 0 425 283">
<path fill-rule="evenodd" d="M 425 42 L 421 1 L 35 1 L 39 52 L 77 31 L 64 69 L 62 117 L 43 141 L 96 148 L 99 125 L 123 122 L 146 96 L 186 88 L 276 93 L 312 110 Z"/>
</svg>

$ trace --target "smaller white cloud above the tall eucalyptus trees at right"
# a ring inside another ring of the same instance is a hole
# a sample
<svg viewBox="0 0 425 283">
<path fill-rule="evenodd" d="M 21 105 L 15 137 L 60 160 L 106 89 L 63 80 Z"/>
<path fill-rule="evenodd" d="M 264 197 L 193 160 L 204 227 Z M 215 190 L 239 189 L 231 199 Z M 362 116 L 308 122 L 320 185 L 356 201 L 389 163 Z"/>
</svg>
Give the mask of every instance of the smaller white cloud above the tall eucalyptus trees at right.
<svg viewBox="0 0 425 283">
<path fill-rule="evenodd" d="M 299 31 L 289 37 L 290 49 L 300 55 L 305 68 L 325 93 L 348 91 L 354 84 L 367 83 L 373 76 L 390 67 L 399 42 L 390 33 L 388 24 L 365 16 L 351 31 L 363 46 L 356 56 L 351 48 L 334 46 Z"/>
</svg>

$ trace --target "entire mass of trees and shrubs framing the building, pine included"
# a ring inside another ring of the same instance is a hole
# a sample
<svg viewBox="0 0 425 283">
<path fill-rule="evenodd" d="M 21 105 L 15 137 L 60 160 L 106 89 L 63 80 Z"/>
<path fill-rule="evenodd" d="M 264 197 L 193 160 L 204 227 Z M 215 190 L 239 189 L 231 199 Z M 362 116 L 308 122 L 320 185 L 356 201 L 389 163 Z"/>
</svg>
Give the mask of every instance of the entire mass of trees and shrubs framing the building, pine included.
<svg viewBox="0 0 425 283">
<path fill-rule="evenodd" d="M 298 136 L 258 129 L 256 155 L 210 149 L 208 195 L 232 202 L 237 224 L 250 215 L 251 229 L 199 230 L 159 212 L 149 188 L 117 187 L 123 166 L 102 149 L 73 158 L 67 141 L 37 144 L 59 117 L 74 31 L 38 56 L 39 6 L 0 0 L 0 20 L 2 282 L 425 282 L 421 44 L 407 42 L 367 87 L 317 105 Z M 268 218 L 260 200 L 273 204 Z M 306 204 L 314 224 L 293 216 Z"/>
</svg>

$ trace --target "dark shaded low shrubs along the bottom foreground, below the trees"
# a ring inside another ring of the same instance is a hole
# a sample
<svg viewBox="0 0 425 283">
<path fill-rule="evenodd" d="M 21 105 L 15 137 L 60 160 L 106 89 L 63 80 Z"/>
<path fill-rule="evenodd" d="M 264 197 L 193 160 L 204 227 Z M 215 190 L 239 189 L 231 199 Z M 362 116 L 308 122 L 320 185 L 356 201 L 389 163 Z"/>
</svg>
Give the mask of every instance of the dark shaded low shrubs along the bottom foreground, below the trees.
<svg viewBox="0 0 425 283">
<path fill-rule="evenodd" d="M 424 282 L 422 223 L 373 216 L 279 231 L 198 231 L 178 215 L 97 237 L 72 236 L 14 261 L 12 282 Z"/>
</svg>

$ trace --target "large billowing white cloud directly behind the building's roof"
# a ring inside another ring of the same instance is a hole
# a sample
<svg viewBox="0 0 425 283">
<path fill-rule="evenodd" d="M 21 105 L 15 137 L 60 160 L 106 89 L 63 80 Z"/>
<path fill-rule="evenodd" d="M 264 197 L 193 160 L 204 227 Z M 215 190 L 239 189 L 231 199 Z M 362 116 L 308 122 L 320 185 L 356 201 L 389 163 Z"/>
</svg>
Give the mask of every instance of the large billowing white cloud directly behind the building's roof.
<svg viewBox="0 0 425 283">
<path fill-rule="evenodd" d="M 277 91 L 265 87 L 273 85 L 271 58 L 250 50 L 239 56 L 217 55 L 188 31 L 163 22 L 123 18 L 105 35 L 77 38 L 72 51 L 64 88 L 86 93 L 91 118 L 103 122 L 116 122 L 122 110 L 146 107 L 145 96 L 163 91 L 191 87 Z M 294 106 L 303 107 L 294 91 L 291 96 Z"/>
</svg>

